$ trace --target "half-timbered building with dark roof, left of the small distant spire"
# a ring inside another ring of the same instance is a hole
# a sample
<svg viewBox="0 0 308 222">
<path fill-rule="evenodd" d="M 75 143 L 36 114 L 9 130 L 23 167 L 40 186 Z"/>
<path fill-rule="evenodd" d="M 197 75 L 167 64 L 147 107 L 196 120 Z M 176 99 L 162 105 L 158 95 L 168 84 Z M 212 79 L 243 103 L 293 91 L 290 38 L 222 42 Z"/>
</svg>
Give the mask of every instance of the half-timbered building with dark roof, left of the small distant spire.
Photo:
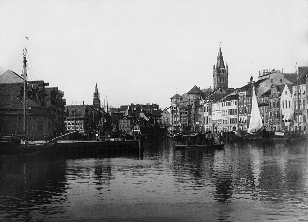
<svg viewBox="0 0 308 222">
<path fill-rule="evenodd" d="M 81 133 L 91 133 L 89 128 L 88 105 L 65 106 L 66 133 L 79 130 Z"/>
</svg>

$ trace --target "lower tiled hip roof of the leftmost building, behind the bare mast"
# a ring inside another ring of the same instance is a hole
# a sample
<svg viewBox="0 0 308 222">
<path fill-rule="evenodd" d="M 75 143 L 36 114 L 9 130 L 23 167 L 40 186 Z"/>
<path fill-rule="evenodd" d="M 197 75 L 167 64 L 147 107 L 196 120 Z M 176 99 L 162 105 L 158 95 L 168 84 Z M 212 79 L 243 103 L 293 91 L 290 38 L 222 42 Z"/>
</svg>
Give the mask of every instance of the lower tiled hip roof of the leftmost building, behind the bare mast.
<svg viewBox="0 0 308 222">
<path fill-rule="evenodd" d="M 39 104 L 26 97 L 26 107 L 42 108 Z M 0 109 L 23 109 L 23 96 L 1 95 Z"/>
</svg>

